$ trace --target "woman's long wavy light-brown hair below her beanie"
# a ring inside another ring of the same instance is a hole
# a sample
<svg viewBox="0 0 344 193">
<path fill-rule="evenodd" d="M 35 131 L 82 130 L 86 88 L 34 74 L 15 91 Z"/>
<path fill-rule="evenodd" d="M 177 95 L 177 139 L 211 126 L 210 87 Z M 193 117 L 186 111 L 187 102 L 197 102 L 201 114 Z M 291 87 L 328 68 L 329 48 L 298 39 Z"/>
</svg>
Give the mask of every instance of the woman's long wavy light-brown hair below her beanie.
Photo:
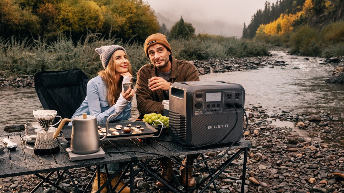
<svg viewBox="0 0 344 193">
<path fill-rule="evenodd" d="M 128 59 L 128 61 L 129 61 L 129 59 Z M 131 69 L 130 61 L 128 63 L 128 72 L 132 75 L 132 69 Z M 112 56 L 109 60 L 109 64 L 107 65 L 106 69 L 99 71 L 98 75 L 105 82 L 105 86 L 107 88 L 106 98 L 107 98 L 109 105 L 110 106 L 115 105 L 118 98 L 119 98 L 119 94 L 122 92 L 123 76 L 120 76 L 119 80 L 116 80 L 114 54 L 112 54 Z"/>
</svg>

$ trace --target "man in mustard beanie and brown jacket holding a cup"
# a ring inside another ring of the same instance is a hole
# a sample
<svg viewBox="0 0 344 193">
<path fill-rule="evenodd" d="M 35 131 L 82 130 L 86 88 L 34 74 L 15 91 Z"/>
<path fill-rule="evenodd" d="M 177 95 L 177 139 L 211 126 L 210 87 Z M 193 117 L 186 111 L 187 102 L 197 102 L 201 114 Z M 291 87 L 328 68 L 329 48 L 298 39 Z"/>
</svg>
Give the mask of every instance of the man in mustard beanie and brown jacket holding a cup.
<svg viewBox="0 0 344 193">
<path fill-rule="evenodd" d="M 176 60 L 171 54 L 171 46 L 163 34 L 153 34 L 147 37 L 144 42 L 144 52 L 151 63 L 146 64 L 137 72 L 136 100 L 140 112 L 139 118 L 144 114 L 163 114 L 163 100 L 169 99 L 169 89 L 173 82 L 200 81 L 197 68 L 188 61 Z M 171 104 L 170 104 L 171 105 Z M 185 156 L 184 165 L 193 165 L 196 155 Z M 186 162 L 187 157 L 189 158 Z M 172 162 L 169 159 L 159 159 L 162 165 L 161 175 L 170 181 L 173 175 Z M 186 175 L 188 175 L 187 186 L 194 188 L 196 182 L 192 177 L 192 168 L 180 167 L 182 183 L 186 186 Z M 157 181 L 155 188 L 166 189 L 160 181 Z"/>
</svg>

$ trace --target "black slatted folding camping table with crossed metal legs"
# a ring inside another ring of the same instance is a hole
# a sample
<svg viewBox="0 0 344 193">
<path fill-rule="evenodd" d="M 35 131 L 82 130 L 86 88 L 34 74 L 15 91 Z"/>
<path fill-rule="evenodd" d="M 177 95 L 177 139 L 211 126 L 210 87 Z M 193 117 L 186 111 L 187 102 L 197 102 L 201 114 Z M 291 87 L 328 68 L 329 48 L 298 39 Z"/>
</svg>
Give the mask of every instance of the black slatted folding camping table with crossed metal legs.
<svg viewBox="0 0 344 193">
<path fill-rule="evenodd" d="M 12 142 L 15 142 L 18 144 L 17 149 L 12 150 L 12 151 L 9 151 L 7 148 L 5 148 L 3 154 L 0 156 L 0 178 L 35 174 L 37 177 L 42 179 L 42 182 L 38 184 L 37 187 L 32 192 L 34 192 L 40 185 L 42 185 L 43 182 L 46 182 L 55 186 L 57 189 L 61 190 L 62 192 L 66 192 L 65 190 L 63 190 L 62 188 L 58 186 L 60 178 L 62 177 L 62 174 L 64 172 L 68 173 L 76 191 L 79 192 L 76 184 L 74 184 L 74 180 L 72 178 L 72 175 L 69 173 L 68 169 L 90 167 L 90 166 L 95 166 L 95 165 L 99 166 L 101 164 L 115 163 L 115 162 L 126 162 L 126 164 L 122 166 L 122 169 L 124 168 L 126 168 L 126 170 L 130 169 L 129 182 L 130 182 L 131 192 L 133 192 L 134 176 L 138 173 L 138 172 L 134 173 L 134 166 L 136 164 L 140 168 L 140 170 L 142 169 L 145 170 L 147 173 L 149 173 L 150 175 L 152 175 L 153 177 L 157 179 L 161 178 L 160 170 L 152 169 L 149 166 L 149 160 L 153 158 L 159 158 L 162 156 L 157 155 L 157 154 L 149 154 L 149 152 L 162 154 L 168 157 L 200 153 L 204 159 L 204 156 L 203 156 L 204 152 L 224 151 L 224 150 L 227 150 L 229 147 L 229 145 L 223 145 L 223 146 L 215 146 L 215 147 L 214 146 L 202 147 L 202 148 L 196 148 L 196 149 L 184 149 L 184 148 L 181 148 L 176 143 L 157 140 L 157 138 L 155 137 L 152 138 L 150 143 L 142 143 L 142 142 L 139 142 L 139 140 L 137 139 L 108 140 L 108 141 L 101 141 L 101 147 L 105 151 L 104 158 L 70 161 L 65 150 L 66 148 L 69 147 L 69 144 L 67 143 L 66 139 L 64 139 L 62 136 L 58 137 L 58 142 L 61 149 L 59 153 L 55 155 L 50 155 L 50 156 L 36 156 L 33 154 L 33 150 L 28 149 L 28 148 L 23 148 L 24 142 L 21 140 L 20 136 L 24 134 L 25 134 L 24 132 L 0 134 L 0 139 L 9 138 Z M 159 138 L 171 140 L 169 136 L 164 136 L 164 135 L 161 135 Z M 0 141 L 2 143 L 2 140 Z M 215 171 L 211 172 L 207 166 L 207 163 L 205 162 L 205 165 L 208 168 L 208 172 L 211 174 L 211 175 L 208 175 L 208 177 L 205 180 L 209 178 L 211 180 L 203 186 L 203 189 L 200 190 L 200 192 L 204 192 L 210 184 L 212 183 L 214 184 L 214 180 L 219 176 L 219 174 L 221 174 L 229 166 L 229 164 L 243 151 L 245 152 L 245 154 L 244 154 L 243 174 L 241 178 L 242 180 L 241 192 L 244 192 L 247 151 L 250 147 L 251 147 L 250 141 L 241 139 L 238 143 L 234 144 L 233 147 L 231 148 L 231 150 L 235 149 L 237 152 L 233 154 L 231 157 L 229 157 L 227 161 L 222 163 L 221 166 L 218 166 L 218 168 Z M 118 151 L 130 151 L 130 150 L 143 151 L 146 153 L 138 153 L 138 152 L 130 152 L 130 153 L 125 153 L 125 154 L 115 153 L 116 151 L 118 152 Z M 99 169 L 99 167 L 97 168 Z M 49 177 L 55 171 L 57 171 L 59 180 L 57 180 L 56 182 L 51 182 L 49 180 Z M 59 171 L 62 171 L 62 173 L 59 173 Z M 50 173 L 46 177 L 43 177 L 42 175 L 39 174 L 39 173 L 47 173 L 47 172 L 50 172 Z M 118 173 L 119 171 L 117 171 L 116 174 Z M 95 174 L 96 173 L 93 174 L 91 182 L 93 181 Z M 107 183 L 109 183 L 112 178 L 109 178 Z M 176 192 L 176 193 L 182 192 L 172 183 L 171 184 L 166 184 L 165 182 L 162 182 L 162 183 L 165 184 L 172 192 Z M 201 182 L 200 184 L 202 183 L 203 182 Z M 104 184 L 102 187 L 105 187 L 106 184 Z M 90 183 L 86 186 L 85 192 L 89 188 L 89 185 Z M 216 188 L 215 184 L 214 186 Z M 196 188 L 200 188 L 199 185 Z M 187 189 L 185 190 L 185 192 L 188 192 L 188 191 L 192 192 L 193 190 L 187 190 Z M 217 189 L 216 191 L 218 192 Z M 98 192 L 100 192 L 100 190 L 98 190 Z"/>
</svg>

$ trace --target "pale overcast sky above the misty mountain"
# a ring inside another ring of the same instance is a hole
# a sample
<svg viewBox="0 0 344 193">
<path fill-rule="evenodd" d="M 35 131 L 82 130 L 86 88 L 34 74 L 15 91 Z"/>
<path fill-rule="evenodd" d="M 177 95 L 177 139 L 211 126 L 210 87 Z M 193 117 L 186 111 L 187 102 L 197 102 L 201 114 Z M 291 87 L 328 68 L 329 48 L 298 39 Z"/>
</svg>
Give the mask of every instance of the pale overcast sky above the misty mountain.
<svg viewBox="0 0 344 193">
<path fill-rule="evenodd" d="M 155 12 L 160 12 L 172 21 L 183 16 L 185 22 L 194 20 L 212 23 L 225 22 L 228 25 L 241 26 L 251 21 L 258 9 L 264 9 L 266 0 L 145 0 Z M 275 2 L 275 0 L 270 1 Z M 196 29 L 197 32 L 197 29 Z M 237 34 L 227 34 L 237 35 Z"/>
</svg>

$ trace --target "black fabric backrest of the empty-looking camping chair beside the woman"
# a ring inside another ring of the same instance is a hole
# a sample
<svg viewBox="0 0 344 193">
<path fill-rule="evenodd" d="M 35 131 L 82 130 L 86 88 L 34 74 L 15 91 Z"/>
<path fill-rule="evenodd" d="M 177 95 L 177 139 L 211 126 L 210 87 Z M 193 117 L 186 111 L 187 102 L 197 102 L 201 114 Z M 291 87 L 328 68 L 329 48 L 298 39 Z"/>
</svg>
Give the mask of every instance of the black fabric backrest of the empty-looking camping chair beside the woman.
<svg viewBox="0 0 344 193">
<path fill-rule="evenodd" d="M 35 90 L 43 109 L 55 110 L 62 118 L 71 118 L 85 100 L 88 81 L 87 75 L 78 68 L 41 71 L 34 76 Z"/>
</svg>

